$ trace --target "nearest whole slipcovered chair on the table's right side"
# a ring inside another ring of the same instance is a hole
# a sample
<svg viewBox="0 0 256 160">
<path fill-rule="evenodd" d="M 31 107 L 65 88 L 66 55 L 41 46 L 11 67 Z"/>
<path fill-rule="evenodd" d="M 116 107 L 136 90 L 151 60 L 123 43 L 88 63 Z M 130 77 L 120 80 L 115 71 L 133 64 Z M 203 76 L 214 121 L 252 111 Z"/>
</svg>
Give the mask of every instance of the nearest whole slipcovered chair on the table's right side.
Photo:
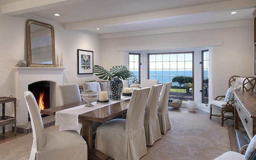
<svg viewBox="0 0 256 160">
<path fill-rule="evenodd" d="M 97 128 L 95 149 L 114 160 L 138 160 L 147 154 L 144 113 L 149 91 L 134 90 L 126 119 L 112 119 Z"/>
</svg>

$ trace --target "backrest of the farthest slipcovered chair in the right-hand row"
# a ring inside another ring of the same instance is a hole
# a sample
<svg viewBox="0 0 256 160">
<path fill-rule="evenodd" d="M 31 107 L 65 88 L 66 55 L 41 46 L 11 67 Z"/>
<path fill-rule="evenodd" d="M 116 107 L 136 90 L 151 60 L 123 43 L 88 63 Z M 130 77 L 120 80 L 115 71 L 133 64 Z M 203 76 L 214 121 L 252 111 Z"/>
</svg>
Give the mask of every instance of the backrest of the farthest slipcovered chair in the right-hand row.
<svg viewBox="0 0 256 160">
<path fill-rule="evenodd" d="M 167 110 L 168 98 L 169 98 L 171 87 L 172 87 L 172 82 L 164 83 L 162 87 L 159 104 L 158 104 L 159 106 L 158 112 L 160 113 L 164 113 Z"/>
</svg>

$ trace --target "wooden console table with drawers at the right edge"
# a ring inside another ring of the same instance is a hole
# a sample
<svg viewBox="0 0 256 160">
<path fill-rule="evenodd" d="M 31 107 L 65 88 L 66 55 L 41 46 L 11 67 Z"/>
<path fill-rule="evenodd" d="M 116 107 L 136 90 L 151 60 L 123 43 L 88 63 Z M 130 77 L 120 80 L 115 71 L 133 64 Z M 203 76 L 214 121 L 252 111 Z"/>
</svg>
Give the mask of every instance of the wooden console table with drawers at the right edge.
<svg viewBox="0 0 256 160">
<path fill-rule="evenodd" d="M 256 134 L 256 92 L 234 91 L 235 101 L 235 129 L 238 120 L 241 122 L 250 140 Z"/>
</svg>

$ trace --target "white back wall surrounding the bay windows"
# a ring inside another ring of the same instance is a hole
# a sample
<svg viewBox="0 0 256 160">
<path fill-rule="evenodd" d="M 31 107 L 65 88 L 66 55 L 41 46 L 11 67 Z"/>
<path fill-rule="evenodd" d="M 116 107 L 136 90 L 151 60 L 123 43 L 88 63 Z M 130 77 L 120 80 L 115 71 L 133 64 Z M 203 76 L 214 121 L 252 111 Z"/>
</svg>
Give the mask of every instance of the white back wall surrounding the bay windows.
<svg viewBox="0 0 256 160">
<path fill-rule="evenodd" d="M 186 46 L 189 46 L 191 51 L 208 47 L 210 49 L 209 77 L 212 80 L 210 103 L 216 96 L 226 94 L 228 79 L 232 75 L 254 76 L 253 20 L 246 20 L 246 22 L 248 25 L 234 28 L 102 39 L 101 49 L 102 59 L 104 59 L 102 66 L 110 68 L 114 65 L 127 64 L 126 57 L 129 49 L 146 53 L 145 47 L 164 49 L 164 51 L 166 49 L 188 50 Z M 216 40 L 217 43 L 215 43 Z M 198 45 L 198 41 L 204 45 Z M 222 43 L 220 44 L 219 41 Z M 207 112 L 210 111 L 209 105 L 208 107 L 202 105 L 201 108 Z"/>
</svg>

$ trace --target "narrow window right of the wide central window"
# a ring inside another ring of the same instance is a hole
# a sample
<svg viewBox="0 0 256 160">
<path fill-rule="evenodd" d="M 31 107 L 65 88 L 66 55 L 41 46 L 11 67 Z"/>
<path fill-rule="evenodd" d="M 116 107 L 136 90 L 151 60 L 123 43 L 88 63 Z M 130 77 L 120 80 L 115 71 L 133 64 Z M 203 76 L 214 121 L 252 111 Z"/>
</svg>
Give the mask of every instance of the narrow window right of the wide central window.
<svg viewBox="0 0 256 160">
<path fill-rule="evenodd" d="M 209 50 L 202 51 L 202 103 L 208 104 Z"/>
</svg>

